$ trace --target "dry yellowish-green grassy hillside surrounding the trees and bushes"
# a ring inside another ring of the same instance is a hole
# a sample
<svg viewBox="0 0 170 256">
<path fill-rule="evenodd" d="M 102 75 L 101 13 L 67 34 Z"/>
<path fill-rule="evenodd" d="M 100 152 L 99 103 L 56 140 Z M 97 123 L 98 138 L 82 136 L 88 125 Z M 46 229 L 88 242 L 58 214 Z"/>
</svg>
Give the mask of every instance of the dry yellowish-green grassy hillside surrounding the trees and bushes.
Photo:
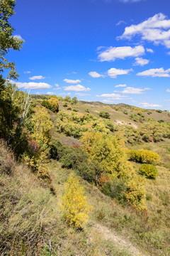
<svg viewBox="0 0 170 256">
<path fill-rule="evenodd" d="M 36 100 L 38 105 L 41 102 L 42 100 Z M 71 115 L 72 110 L 76 110 L 73 111 L 76 115 L 92 114 L 100 122 L 97 127 L 100 128 L 102 124 L 104 131 L 106 119 L 100 117 L 99 113 L 108 112 L 109 121 L 116 129 L 113 132 L 106 131 L 113 136 L 124 133 L 124 138 L 126 127 L 132 127 L 133 132 L 135 129 L 140 133 L 142 125 L 149 122 L 148 118 L 154 118 L 152 122 L 163 120 L 157 124 L 170 120 L 168 112 L 138 110 L 127 105 L 103 105 L 100 102 L 78 102 L 77 105 L 69 104 L 67 107 L 63 105 L 64 101 L 60 101 L 58 113 L 48 110 L 55 124 L 52 128 L 52 143 L 61 142 L 70 150 L 81 146 L 81 136 L 67 136 L 65 132 L 58 131 L 58 117 L 63 112 Z M 130 117 L 132 113 L 138 112 L 144 115 L 142 122 L 141 119 L 134 121 Z M 77 124 L 68 120 L 71 126 Z M 84 126 L 83 123 L 79 125 Z M 38 179 L 26 164 L 16 162 L 13 153 L 1 142 L 0 254 L 170 255 L 169 138 L 162 137 L 157 143 L 145 142 L 143 139 L 140 142 L 126 142 L 126 147 L 149 149 L 161 156 L 161 161 L 157 164 L 159 175 L 156 180 L 146 179 L 147 210 L 141 214 L 129 203 L 120 203 L 116 198 L 106 196 L 93 182 L 89 183 L 80 177 L 87 201 L 93 206 L 93 210 L 89 215 L 89 222 L 82 230 L 77 230 L 65 223 L 60 207 L 64 184 L 72 168 L 64 168 L 63 163 L 57 159 L 49 159 L 47 167 L 50 181 Z M 132 162 L 132 165 L 138 171 L 140 164 Z M 74 172 L 79 175 L 77 169 Z"/>
</svg>

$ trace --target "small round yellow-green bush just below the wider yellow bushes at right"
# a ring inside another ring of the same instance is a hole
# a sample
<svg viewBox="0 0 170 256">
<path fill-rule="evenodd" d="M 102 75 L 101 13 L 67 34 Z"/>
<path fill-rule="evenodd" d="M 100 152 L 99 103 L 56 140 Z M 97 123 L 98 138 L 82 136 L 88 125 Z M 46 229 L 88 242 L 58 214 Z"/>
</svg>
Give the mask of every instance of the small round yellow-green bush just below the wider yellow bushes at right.
<svg viewBox="0 0 170 256">
<path fill-rule="evenodd" d="M 158 176 L 158 171 L 152 164 L 142 164 L 139 169 L 139 173 L 146 178 L 156 178 Z"/>
</svg>

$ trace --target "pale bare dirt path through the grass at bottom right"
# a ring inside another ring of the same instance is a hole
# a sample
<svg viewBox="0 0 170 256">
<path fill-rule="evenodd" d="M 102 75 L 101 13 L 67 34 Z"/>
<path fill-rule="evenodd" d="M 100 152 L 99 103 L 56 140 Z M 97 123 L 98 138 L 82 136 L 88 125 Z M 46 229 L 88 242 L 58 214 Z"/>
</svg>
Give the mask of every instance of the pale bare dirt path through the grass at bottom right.
<svg viewBox="0 0 170 256">
<path fill-rule="evenodd" d="M 144 255 L 140 250 L 134 247 L 131 242 L 123 240 L 123 238 L 120 238 L 118 235 L 113 233 L 113 231 L 103 225 L 96 224 L 94 225 L 94 229 L 97 233 L 101 233 L 104 239 L 115 242 L 119 247 L 123 247 L 123 249 L 128 250 L 133 256 L 149 256 Z"/>
</svg>

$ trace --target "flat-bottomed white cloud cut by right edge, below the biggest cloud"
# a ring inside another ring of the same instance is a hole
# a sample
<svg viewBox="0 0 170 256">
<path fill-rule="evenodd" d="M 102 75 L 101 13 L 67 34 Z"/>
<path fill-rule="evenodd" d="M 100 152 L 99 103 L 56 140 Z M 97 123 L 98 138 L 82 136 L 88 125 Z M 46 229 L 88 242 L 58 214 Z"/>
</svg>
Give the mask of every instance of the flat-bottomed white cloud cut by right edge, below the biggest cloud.
<svg viewBox="0 0 170 256">
<path fill-rule="evenodd" d="M 137 73 L 140 76 L 151 76 L 152 78 L 169 78 L 170 68 L 164 70 L 164 68 L 152 68 L 143 72 Z"/>
</svg>

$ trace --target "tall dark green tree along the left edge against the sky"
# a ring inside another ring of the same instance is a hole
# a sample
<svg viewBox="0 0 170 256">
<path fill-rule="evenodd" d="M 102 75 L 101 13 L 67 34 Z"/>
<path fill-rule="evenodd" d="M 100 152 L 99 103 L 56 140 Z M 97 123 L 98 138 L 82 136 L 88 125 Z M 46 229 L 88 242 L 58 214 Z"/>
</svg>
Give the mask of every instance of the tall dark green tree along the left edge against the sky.
<svg viewBox="0 0 170 256">
<path fill-rule="evenodd" d="M 14 28 L 8 21 L 15 14 L 15 5 L 15 0 L 0 1 L 0 136 L 7 140 L 8 145 L 11 143 L 12 134 L 16 141 L 16 138 L 21 134 L 21 124 L 23 124 L 29 108 L 28 99 L 25 98 L 26 101 L 23 102 L 25 95 L 21 96 L 16 87 L 10 85 L 9 82 L 6 83 L 6 79 L 3 77 L 4 70 L 8 70 L 8 79 L 18 77 L 15 63 L 6 59 L 9 50 L 20 50 L 23 43 L 23 41 L 13 37 Z M 17 97 L 18 99 L 16 99 Z"/>
</svg>

